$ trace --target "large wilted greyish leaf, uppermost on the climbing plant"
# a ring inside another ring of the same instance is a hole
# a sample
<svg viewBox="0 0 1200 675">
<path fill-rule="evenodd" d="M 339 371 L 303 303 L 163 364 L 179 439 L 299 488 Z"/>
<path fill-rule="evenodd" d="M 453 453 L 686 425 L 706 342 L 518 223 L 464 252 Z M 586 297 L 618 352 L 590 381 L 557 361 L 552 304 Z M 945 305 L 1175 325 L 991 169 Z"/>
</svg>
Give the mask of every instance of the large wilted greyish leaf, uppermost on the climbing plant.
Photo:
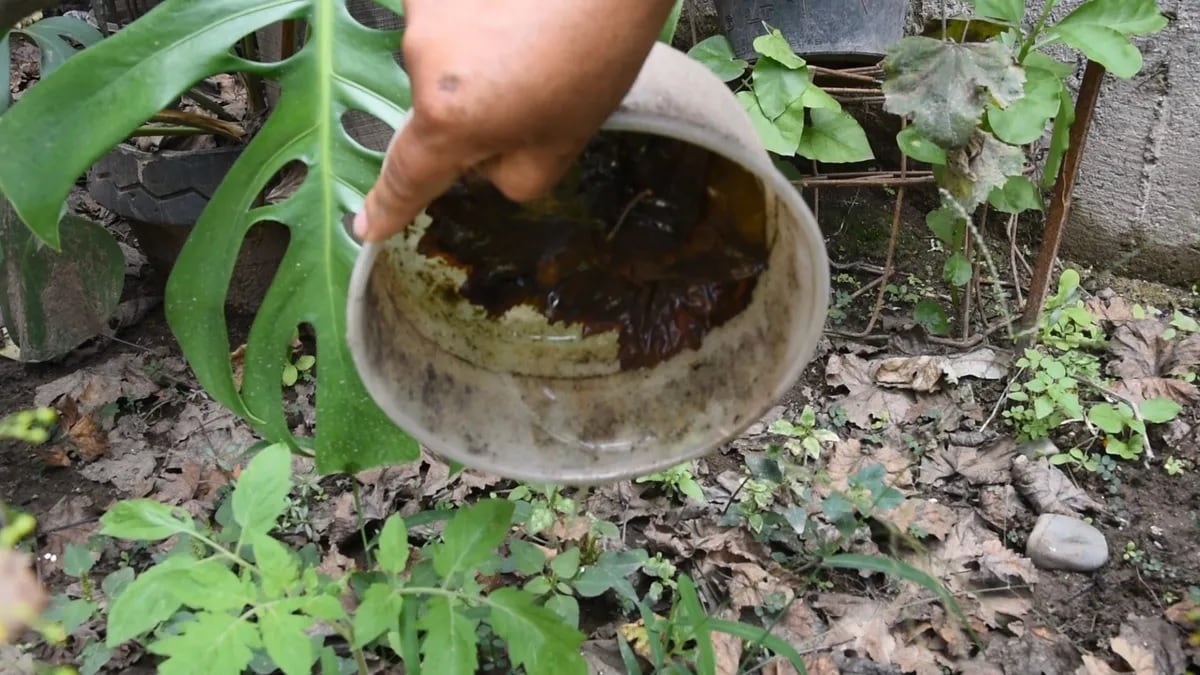
<svg viewBox="0 0 1200 675">
<path fill-rule="evenodd" d="M 911 117 L 918 133 L 946 149 L 972 138 L 988 104 L 1008 107 L 1024 94 L 1025 73 L 1002 42 L 905 37 L 883 68 L 884 109 Z"/>
</svg>

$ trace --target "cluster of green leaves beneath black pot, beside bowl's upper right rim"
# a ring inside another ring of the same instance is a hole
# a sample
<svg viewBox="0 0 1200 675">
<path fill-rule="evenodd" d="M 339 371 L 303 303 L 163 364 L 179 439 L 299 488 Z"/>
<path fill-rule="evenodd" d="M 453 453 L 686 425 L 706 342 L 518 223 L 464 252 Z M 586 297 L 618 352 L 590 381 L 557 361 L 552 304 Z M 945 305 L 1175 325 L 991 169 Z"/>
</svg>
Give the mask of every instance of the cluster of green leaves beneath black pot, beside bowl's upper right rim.
<svg viewBox="0 0 1200 675">
<path fill-rule="evenodd" d="M 875 159 L 863 127 L 812 83 L 808 62 L 792 52 L 779 30 L 756 37 L 754 49 L 758 59 L 752 68 L 734 56 L 724 35 L 697 43 L 688 54 L 722 80 L 739 80 L 734 94 L 767 150 L 830 163 Z"/>
</svg>

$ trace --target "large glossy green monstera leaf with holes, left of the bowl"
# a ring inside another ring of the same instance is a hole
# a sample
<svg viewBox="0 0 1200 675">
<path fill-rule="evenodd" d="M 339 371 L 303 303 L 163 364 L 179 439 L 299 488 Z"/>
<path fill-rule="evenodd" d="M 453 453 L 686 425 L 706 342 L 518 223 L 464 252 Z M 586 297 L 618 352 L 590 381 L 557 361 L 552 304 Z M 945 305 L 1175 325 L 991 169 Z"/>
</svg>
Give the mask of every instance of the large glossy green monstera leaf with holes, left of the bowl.
<svg viewBox="0 0 1200 675">
<path fill-rule="evenodd" d="M 378 0 L 400 12 L 398 0 Z M 244 36 L 304 19 L 308 40 L 277 64 L 235 56 Z M 361 471 L 416 456 L 416 444 L 367 395 L 346 344 L 346 300 L 358 246 L 343 216 L 356 211 L 382 155 L 342 126 L 348 110 L 397 124 L 408 78 L 394 59 L 400 35 L 358 23 L 344 0 L 167 0 L 62 65 L 0 117 L 0 191 L 52 246 L 76 179 L 193 83 L 245 71 L 277 79 L 282 96 L 212 196 L 175 264 L 167 318 L 208 392 L 274 441 L 294 438 L 281 372 L 293 331 L 317 333 L 316 455 L 323 472 Z M 258 207 L 284 166 L 307 173 L 288 199 Z M 241 387 L 234 381 L 224 297 L 247 231 L 276 221 L 290 229 L 278 273 L 250 331 Z"/>
</svg>

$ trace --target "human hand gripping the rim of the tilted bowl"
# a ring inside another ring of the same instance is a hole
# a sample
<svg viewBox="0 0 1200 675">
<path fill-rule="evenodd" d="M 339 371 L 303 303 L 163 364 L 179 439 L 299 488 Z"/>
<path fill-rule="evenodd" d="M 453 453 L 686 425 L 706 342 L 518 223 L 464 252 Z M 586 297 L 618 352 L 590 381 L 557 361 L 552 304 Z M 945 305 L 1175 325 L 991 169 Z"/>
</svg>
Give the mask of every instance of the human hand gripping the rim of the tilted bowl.
<svg viewBox="0 0 1200 675">
<path fill-rule="evenodd" d="M 632 86 L 673 0 L 406 0 L 412 118 L 354 221 L 379 241 L 464 173 L 539 197 Z"/>
</svg>

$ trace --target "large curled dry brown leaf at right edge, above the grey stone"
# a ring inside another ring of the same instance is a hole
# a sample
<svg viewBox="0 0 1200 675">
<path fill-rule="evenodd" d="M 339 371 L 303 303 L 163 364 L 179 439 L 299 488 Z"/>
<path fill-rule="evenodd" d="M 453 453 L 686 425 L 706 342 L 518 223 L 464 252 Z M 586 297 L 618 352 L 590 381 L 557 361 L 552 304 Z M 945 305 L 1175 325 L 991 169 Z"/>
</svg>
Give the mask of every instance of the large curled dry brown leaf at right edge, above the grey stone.
<svg viewBox="0 0 1200 675">
<path fill-rule="evenodd" d="M 1157 319 L 1132 321 L 1112 334 L 1109 350 L 1117 360 L 1108 366 L 1109 375 L 1120 378 L 1112 390 L 1140 402 L 1168 398 L 1181 405 L 1200 400 L 1200 389 L 1176 380 L 1200 364 L 1200 335 L 1175 342 L 1165 340 L 1166 325 Z"/>
</svg>

